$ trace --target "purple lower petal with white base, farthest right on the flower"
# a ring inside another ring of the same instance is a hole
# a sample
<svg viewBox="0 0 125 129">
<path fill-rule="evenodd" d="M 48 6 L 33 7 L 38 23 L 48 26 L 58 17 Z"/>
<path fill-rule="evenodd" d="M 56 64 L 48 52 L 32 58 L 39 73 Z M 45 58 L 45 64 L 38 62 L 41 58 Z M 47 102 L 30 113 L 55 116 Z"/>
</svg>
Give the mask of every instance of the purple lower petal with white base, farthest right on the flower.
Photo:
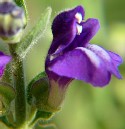
<svg viewBox="0 0 125 129">
<path fill-rule="evenodd" d="M 115 53 L 108 52 L 107 50 L 95 44 L 88 44 L 87 48 L 93 51 L 103 60 L 109 72 L 114 74 L 119 79 L 122 78 L 117 68 L 117 66 L 122 63 L 120 56 L 116 55 Z"/>
</svg>

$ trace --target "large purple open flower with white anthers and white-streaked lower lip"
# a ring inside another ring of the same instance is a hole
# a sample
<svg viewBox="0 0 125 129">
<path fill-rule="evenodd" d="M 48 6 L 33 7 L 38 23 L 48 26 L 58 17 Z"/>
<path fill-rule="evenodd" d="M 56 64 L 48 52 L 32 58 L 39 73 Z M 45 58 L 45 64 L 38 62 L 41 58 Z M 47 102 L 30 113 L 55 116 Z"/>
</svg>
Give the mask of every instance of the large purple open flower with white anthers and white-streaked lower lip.
<svg viewBox="0 0 125 129">
<path fill-rule="evenodd" d="M 90 44 L 100 25 L 94 18 L 84 21 L 84 14 L 83 7 L 77 6 L 60 13 L 53 21 L 53 41 L 45 64 L 50 84 L 56 82 L 60 87 L 66 87 L 77 79 L 93 86 L 105 86 L 112 74 L 122 78 L 118 71 L 122 58 Z"/>
</svg>

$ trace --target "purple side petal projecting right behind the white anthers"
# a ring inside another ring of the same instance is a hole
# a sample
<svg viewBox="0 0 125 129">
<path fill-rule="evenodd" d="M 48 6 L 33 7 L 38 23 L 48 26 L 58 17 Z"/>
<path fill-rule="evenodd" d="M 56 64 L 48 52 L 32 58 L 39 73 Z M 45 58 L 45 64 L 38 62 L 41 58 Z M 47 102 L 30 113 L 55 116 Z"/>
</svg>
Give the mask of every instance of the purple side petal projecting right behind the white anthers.
<svg viewBox="0 0 125 129">
<path fill-rule="evenodd" d="M 100 28 L 98 19 L 94 18 L 90 18 L 86 22 L 82 22 L 81 25 L 82 33 L 75 37 L 72 44 L 65 51 L 73 50 L 76 47 L 85 47 Z"/>
</svg>

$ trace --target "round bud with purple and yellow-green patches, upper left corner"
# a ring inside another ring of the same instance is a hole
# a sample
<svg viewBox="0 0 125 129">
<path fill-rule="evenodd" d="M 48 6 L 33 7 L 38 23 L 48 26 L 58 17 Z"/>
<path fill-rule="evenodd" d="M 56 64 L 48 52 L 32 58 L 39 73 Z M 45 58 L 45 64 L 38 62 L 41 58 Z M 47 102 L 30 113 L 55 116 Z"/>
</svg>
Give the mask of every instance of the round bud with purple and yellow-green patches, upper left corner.
<svg viewBox="0 0 125 129">
<path fill-rule="evenodd" d="M 24 10 L 11 0 L 0 2 L 0 37 L 7 43 L 17 43 L 26 26 Z"/>
</svg>

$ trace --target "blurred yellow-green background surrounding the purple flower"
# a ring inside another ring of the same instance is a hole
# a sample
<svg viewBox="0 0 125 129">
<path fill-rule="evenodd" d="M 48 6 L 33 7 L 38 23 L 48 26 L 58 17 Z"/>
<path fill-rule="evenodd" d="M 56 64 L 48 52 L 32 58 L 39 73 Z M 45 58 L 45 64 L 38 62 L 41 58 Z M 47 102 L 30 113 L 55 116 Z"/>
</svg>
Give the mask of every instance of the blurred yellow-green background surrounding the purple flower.
<svg viewBox="0 0 125 129">
<path fill-rule="evenodd" d="M 27 30 L 48 6 L 53 10 L 46 33 L 26 58 L 27 83 L 44 70 L 45 57 L 52 41 L 54 16 L 77 5 L 84 6 L 85 19 L 93 17 L 100 21 L 101 29 L 91 43 L 114 51 L 125 59 L 125 0 L 27 0 Z M 1 50 L 6 51 L 4 46 L 1 44 Z M 125 129 L 125 63 L 119 69 L 123 79 L 112 77 L 110 84 L 104 88 L 73 81 L 62 110 L 50 123 L 55 123 L 58 129 Z"/>
</svg>

